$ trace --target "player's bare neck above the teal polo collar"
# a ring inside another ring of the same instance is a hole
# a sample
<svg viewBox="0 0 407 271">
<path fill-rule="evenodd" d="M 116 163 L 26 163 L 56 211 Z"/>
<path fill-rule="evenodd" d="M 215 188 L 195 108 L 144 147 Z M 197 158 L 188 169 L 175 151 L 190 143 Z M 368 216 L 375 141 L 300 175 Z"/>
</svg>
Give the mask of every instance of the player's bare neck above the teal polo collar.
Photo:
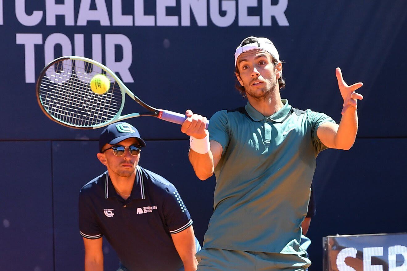
<svg viewBox="0 0 407 271">
<path fill-rule="evenodd" d="M 280 90 L 271 91 L 265 98 L 257 99 L 247 95 L 247 100 L 258 112 L 269 117 L 279 111 L 284 104 L 281 102 Z"/>
</svg>

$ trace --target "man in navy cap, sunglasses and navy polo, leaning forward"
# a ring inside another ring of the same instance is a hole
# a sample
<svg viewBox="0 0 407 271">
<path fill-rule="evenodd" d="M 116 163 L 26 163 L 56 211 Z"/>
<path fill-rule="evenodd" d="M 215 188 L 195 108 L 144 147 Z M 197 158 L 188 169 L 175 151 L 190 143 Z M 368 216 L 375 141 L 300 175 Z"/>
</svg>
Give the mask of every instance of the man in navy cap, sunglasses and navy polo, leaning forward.
<svg viewBox="0 0 407 271">
<path fill-rule="evenodd" d="M 138 165 L 146 144 L 125 122 L 99 137 L 98 159 L 107 171 L 79 195 L 85 271 L 103 270 L 102 236 L 120 258 L 118 271 L 195 271 L 200 245 L 177 189 Z"/>
</svg>

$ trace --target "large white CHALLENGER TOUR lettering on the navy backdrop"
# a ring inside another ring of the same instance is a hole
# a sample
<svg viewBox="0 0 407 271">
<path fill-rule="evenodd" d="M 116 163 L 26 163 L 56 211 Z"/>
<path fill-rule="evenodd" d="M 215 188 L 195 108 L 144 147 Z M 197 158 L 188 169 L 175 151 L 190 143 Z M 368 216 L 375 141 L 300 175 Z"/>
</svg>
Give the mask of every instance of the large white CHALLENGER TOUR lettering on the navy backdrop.
<svg viewBox="0 0 407 271">
<path fill-rule="evenodd" d="M 258 7 L 259 0 L 133 0 L 133 14 L 123 15 L 123 3 L 129 1 L 110 0 L 112 10 L 107 10 L 106 0 L 94 0 L 96 9 L 91 8 L 92 0 L 45 0 L 45 9 L 26 10 L 26 0 L 15 0 L 15 15 L 24 26 L 36 26 L 40 23 L 46 26 L 57 25 L 57 16 L 63 16 L 65 26 L 86 26 L 90 21 L 98 21 L 101 26 L 191 26 L 191 20 L 198 26 L 208 26 L 208 21 L 219 27 L 227 27 L 233 23 L 238 26 L 271 26 L 271 19 L 275 17 L 278 25 L 289 26 L 285 11 L 288 0 L 262 0 L 261 14 L 248 15 L 251 7 Z M 144 2 L 146 1 L 146 2 Z M 63 4 L 56 4 L 63 2 Z M 155 14 L 145 15 L 144 4 L 155 4 Z M 77 21 L 75 22 L 75 4 L 79 4 Z M 109 5 L 110 7 L 110 5 Z M 179 15 L 167 15 L 167 8 L 178 9 Z M 209 14 L 208 14 L 209 9 Z M 258 11 L 259 9 L 256 9 Z M 125 8 L 125 12 L 132 12 Z M 112 21 L 109 17 L 112 15 Z M 236 16 L 236 12 L 238 12 Z M 27 15 L 31 14 L 31 15 Z M 45 14 L 44 14 L 45 13 Z M 191 16 L 193 14 L 193 16 Z M 45 17 L 45 20 L 42 20 Z M 194 17 L 191 18 L 191 17 Z M 237 21 L 237 22 L 236 22 Z M 0 25 L 4 24 L 3 0 L 0 0 Z M 60 24 L 60 23 L 59 23 Z M 41 29 L 43 31 L 44 29 Z M 61 30 L 63 31 L 63 30 Z M 108 30 L 107 30 L 108 31 Z M 31 32 L 31 31 L 29 31 Z M 83 56 L 85 54 L 85 37 L 83 34 L 73 34 L 68 37 L 62 33 L 49 35 L 44 42 L 45 64 L 55 59 L 55 45 L 60 44 L 63 55 Z M 106 34 L 105 63 L 114 72 L 118 72 L 123 82 L 134 82 L 129 72 L 132 64 L 133 52 L 130 39 L 123 34 Z M 45 38 L 45 37 L 44 37 Z M 25 76 L 27 83 L 35 82 L 35 44 L 42 44 L 42 34 L 16 34 L 16 44 L 24 45 Z M 123 48 L 123 59 L 116 61 L 116 45 Z M 72 52 L 74 46 L 74 52 Z M 165 46 L 165 45 L 164 45 Z M 102 62 L 102 34 L 92 34 L 92 59 Z"/>
</svg>

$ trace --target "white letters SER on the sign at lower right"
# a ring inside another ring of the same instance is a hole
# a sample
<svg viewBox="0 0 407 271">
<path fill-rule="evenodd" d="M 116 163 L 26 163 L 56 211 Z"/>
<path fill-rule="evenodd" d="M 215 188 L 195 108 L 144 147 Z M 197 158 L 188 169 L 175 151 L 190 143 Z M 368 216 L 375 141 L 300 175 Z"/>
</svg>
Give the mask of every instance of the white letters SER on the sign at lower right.
<svg viewBox="0 0 407 271">
<path fill-rule="evenodd" d="M 395 245 L 388 250 L 389 271 L 406 271 L 407 270 L 407 247 Z M 339 251 L 336 258 L 338 271 L 356 271 L 345 263 L 348 257 L 356 258 L 357 250 L 354 247 L 346 247 Z M 403 264 L 397 266 L 396 255 L 402 255 Z M 383 257 L 383 247 L 363 247 L 363 271 L 383 271 L 383 265 L 372 265 L 372 257 Z"/>
</svg>

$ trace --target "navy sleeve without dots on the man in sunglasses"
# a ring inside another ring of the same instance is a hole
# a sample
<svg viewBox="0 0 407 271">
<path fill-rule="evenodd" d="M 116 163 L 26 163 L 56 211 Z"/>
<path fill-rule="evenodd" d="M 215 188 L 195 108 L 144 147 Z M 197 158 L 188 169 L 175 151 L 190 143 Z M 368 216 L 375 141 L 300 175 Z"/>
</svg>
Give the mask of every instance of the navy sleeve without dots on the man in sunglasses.
<svg viewBox="0 0 407 271">
<path fill-rule="evenodd" d="M 79 193 L 79 233 L 88 239 L 98 239 L 103 236 L 92 211 L 92 203 L 82 190 Z"/>
</svg>

